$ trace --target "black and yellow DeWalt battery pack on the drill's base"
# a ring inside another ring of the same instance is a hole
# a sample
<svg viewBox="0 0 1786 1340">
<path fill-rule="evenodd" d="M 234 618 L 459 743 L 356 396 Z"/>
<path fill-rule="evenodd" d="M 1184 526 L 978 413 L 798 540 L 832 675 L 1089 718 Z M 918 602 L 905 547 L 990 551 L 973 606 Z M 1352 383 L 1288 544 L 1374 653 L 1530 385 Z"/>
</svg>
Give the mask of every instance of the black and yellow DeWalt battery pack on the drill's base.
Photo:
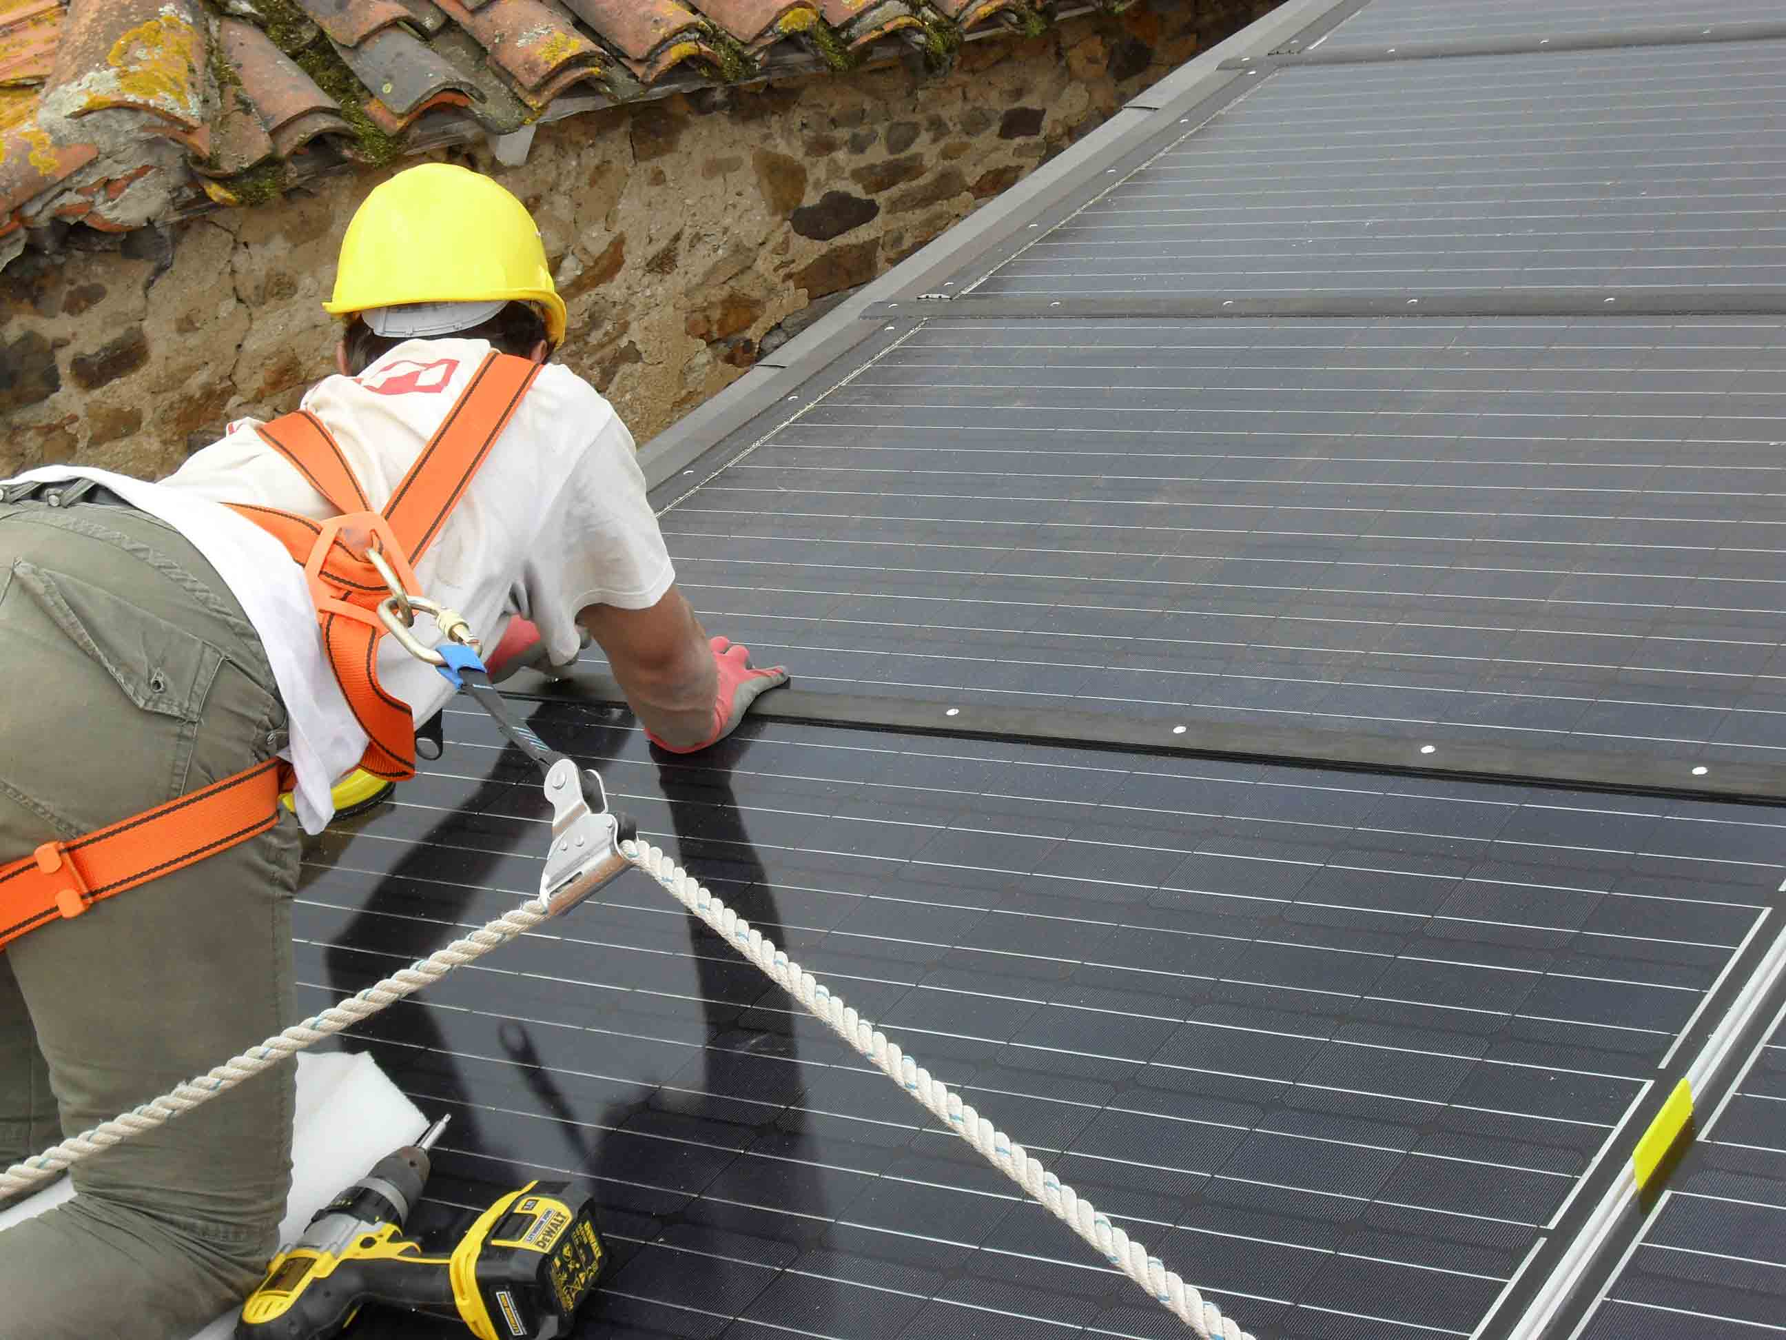
<svg viewBox="0 0 1786 1340">
<path fill-rule="evenodd" d="M 479 1215 L 452 1254 L 459 1317 L 479 1340 L 554 1340 L 604 1263 L 588 1192 L 529 1183 Z"/>
</svg>

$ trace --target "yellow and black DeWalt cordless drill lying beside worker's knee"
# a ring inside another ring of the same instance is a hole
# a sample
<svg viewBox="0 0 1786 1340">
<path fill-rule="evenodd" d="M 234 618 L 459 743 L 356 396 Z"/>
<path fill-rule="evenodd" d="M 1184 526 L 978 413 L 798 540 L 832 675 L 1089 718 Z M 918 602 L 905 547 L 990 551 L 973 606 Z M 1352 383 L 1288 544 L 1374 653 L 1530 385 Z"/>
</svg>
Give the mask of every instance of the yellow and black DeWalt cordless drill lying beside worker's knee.
<svg viewBox="0 0 1786 1340">
<path fill-rule="evenodd" d="M 248 1295 L 236 1340 L 332 1340 L 366 1302 L 459 1317 L 479 1340 L 552 1340 L 602 1272 L 589 1195 L 529 1183 L 477 1217 L 446 1256 L 404 1236 L 443 1117 L 316 1211 Z"/>
</svg>

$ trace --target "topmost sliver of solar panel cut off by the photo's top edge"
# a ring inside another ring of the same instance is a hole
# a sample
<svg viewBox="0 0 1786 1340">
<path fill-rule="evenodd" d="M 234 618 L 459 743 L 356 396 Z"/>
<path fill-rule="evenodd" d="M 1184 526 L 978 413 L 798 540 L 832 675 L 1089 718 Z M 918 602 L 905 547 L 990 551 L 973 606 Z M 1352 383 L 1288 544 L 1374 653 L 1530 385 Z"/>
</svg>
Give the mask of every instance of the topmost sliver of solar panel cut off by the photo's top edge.
<svg viewBox="0 0 1786 1340">
<path fill-rule="evenodd" d="M 1779 0 L 1370 0 L 1316 50 L 1770 23 Z"/>
</svg>

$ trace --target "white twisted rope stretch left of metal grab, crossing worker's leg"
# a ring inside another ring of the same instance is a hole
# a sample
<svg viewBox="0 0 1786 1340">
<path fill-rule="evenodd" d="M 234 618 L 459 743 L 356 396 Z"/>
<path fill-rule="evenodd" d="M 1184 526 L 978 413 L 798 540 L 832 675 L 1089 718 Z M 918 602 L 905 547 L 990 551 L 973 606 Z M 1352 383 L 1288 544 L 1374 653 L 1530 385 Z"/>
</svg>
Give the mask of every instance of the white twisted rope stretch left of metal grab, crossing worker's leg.
<svg viewBox="0 0 1786 1340">
<path fill-rule="evenodd" d="M 166 1126 L 182 1111 L 191 1111 L 198 1104 L 209 1102 L 218 1093 L 236 1088 L 236 1085 L 243 1079 L 257 1076 L 263 1070 L 270 1070 L 288 1056 L 295 1056 L 305 1047 L 314 1047 L 323 1038 L 339 1033 L 363 1018 L 377 1015 L 380 1009 L 396 1004 L 405 995 L 414 995 L 423 986 L 439 981 L 454 968 L 472 963 L 497 945 L 505 945 L 514 936 L 534 929 L 545 918 L 545 900 L 529 899 L 520 908 L 488 922 L 482 929 L 472 931 L 472 934 L 461 940 L 454 940 L 445 949 L 429 954 L 425 959 L 411 963 L 402 972 L 393 972 L 384 981 L 368 986 L 357 995 L 338 1001 L 320 1015 L 305 1018 L 302 1024 L 293 1024 L 289 1029 L 273 1034 L 259 1047 L 250 1047 L 239 1056 L 232 1056 L 214 1070 L 188 1079 L 184 1085 L 163 1093 L 154 1102 L 145 1102 L 134 1111 L 121 1113 L 89 1131 L 70 1136 L 63 1143 L 43 1151 L 36 1158 L 14 1163 L 0 1174 L 0 1201 L 25 1192 L 41 1181 L 48 1181 L 70 1165 L 79 1163 L 84 1158 L 91 1158 L 102 1149 L 111 1149 L 113 1145 L 120 1145 L 132 1136 L 143 1135 L 143 1131 L 154 1131 L 157 1126 Z"/>
</svg>

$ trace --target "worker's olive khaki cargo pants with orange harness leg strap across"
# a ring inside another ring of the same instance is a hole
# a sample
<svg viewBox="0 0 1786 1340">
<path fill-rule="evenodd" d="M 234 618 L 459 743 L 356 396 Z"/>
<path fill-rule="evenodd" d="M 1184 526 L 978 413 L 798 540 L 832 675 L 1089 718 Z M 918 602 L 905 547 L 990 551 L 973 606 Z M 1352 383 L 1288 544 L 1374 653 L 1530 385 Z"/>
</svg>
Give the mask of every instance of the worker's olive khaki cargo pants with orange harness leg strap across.
<svg viewBox="0 0 1786 1340">
<path fill-rule="evenodd" d="M 139 511 L 0 502 L 0 863 L 284 743 L 229 588 Z M 0 1163 L 209 1070 L 295 1018 L 298 829 L 277 829 L 0 951 Z M 79 1163 L 0 1233 L 0 1340 L 163 1340 L 259 1283 L 291 1170 L 293 1067 Z"/>
</svg>

